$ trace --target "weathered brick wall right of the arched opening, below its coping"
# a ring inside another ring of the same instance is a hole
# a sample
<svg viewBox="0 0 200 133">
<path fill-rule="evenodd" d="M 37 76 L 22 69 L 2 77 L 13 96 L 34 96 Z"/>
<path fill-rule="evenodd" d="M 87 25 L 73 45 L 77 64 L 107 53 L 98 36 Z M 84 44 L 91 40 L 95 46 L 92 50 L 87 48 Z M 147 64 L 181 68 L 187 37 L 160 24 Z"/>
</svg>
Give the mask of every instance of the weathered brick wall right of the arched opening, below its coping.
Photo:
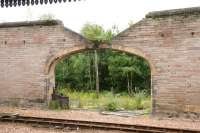
<svg viewBox="0 0 200 133">
<path fill-rule="evenodd" d="M 199 13 L 145 18 L 112 43 L 141 50 L 155 67 L 153 113 L 200 113 Z"/>
</svg>

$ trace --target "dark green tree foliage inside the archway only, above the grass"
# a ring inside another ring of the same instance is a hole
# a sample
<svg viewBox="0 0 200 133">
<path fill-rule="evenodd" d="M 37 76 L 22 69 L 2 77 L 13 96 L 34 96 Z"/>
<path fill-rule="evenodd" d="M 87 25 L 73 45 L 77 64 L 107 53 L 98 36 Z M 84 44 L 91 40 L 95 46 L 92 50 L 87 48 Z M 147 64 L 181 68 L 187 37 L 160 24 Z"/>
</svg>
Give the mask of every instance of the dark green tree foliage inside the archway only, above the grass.
<svg viewBox="0 0 200 133">
<path fill-rule="evenodd" d="M 56 88 L 95 90 L 94 52 L 67 56 L 55 69 Z M 127 92 L 127 76 L 133 93 L 145 90 L 150 94 L 150 68 L 144 59 L 110 49 L 99 51 L 99 82 L 101 91 Z"/>
</svg>

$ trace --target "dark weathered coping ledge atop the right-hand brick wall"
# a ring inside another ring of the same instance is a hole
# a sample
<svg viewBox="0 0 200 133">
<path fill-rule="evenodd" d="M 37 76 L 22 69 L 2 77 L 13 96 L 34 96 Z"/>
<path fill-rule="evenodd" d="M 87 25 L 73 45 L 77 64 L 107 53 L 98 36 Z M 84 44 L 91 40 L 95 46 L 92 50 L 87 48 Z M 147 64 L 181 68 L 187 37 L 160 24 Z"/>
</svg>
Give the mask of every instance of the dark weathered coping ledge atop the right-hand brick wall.
<svg viewBox="0 0 200 133">
<path fill-rule="evenodd" d="M 181 8 L 163 11 L 153 11 L 146 15 L 146 18 L 160 18 L 160 17 L 170 17 L 170 16 L 187 16 L 192 14 L 200 14 L 200 7 L 192 8 Z"/>
</svg>

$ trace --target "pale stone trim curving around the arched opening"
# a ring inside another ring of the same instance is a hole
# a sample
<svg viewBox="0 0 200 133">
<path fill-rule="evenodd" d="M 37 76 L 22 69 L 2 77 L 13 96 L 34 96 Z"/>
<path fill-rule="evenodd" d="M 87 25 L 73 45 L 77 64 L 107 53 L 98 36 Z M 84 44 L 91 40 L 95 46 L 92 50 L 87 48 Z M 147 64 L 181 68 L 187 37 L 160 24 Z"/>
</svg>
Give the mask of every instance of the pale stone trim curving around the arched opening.
<svg viewBox="0 0 200 133">
<path fill-rule="evenodd" d="M 155 65 L 153 64 L 152 60 L 150 59 L 150 57 L 148 57 L 142 50 L 140 49 L 136 49 L 134 47 L 124 47 L 123 45 L 107 45 L 107 44 L 103 44 L 100 45 L 99 49 L 112 49 L 112 50 L 116 50 L 116 51 L 121 51 L 121 52 L 125 52 L 125 53 L 129 53 L 132 55 L 136 55 L 139 56 L 141 58 L 143 58 L 144 60 L 146 60 L 148 62 L 148 65 L 150 67 L 150 72 L 151 72 L 151 103 L 152 103 L 152 113 L 154 113 L 154 95 L 153 95 L 153 86 L 152 86 L 152 77 L 153 75 L 156 73 L 156 69 L 155 69 Z M 54 56 L 52 56 L 48 61 L 47 64 L 45 66 L 45 73 L 47 75 L 49 75 L 50 77 L 50 81 L 53 84 L 53 87 L 55 86 L 55 66 L 57 64 L 57 62 L 59 60 L 61 60 L 62 58 L 64 58 L 65 56 L 69 56 L 75 53 L 80 53 L 82 51 L 85 50 L 91 50 L 91 48 L 88 48 L 86 45 L 81 45 L 81 46 L 74 46 L 72 48 L 67 48 L 67 49 L 63 49 L 58 51 Z M 50 92 L 49 92 L 49 99 L 50 100 L 50 96 L 52 93 L 52 88 L 49 88 Z"/>
</svg>

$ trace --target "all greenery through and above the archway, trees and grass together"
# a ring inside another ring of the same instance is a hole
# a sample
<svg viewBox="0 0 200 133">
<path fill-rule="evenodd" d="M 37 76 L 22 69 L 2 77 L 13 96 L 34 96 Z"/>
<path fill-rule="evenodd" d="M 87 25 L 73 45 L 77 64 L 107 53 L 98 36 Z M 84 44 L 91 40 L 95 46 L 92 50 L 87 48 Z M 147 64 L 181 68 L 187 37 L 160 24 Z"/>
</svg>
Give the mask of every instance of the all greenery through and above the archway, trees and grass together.
<svg viewBox="0 0 200 133">
<path fill-rule="evenodd" d="M 97 48 L 101 43 L 110 43 L 118 28 L 113 26 L 106 31 L 102 26 L 85 24 L 81 33 Z M 64 57 L 56 65 L 57 91 L 74 101 L 71 107 L 148 110 L 151 102 L 148 62 L 136 55 L 111 49 L 96 51 L 88 50 Z M 98 54 L 97 58 L 94 53 Z M 98 98 L 95 93 L 97 77 L 100 86 Z"/>
</svg>

